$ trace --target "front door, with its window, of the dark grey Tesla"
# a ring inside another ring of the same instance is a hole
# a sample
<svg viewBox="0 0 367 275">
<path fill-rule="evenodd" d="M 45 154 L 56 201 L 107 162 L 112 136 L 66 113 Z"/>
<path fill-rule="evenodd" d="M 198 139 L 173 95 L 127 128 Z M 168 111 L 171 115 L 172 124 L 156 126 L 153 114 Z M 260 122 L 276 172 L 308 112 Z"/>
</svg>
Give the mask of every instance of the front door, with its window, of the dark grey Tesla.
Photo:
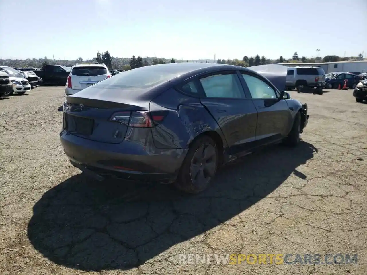
<svg viewBox="0 0 367 275">
<path fill-rule="evenodd" d="M 243 85 L 250 92 L 258 112 L 256 139 L 259 144 L 275 142 L 288 135 L 291 113 L 285 99 L 266 78 L 241 72 Z"/>
</svg>

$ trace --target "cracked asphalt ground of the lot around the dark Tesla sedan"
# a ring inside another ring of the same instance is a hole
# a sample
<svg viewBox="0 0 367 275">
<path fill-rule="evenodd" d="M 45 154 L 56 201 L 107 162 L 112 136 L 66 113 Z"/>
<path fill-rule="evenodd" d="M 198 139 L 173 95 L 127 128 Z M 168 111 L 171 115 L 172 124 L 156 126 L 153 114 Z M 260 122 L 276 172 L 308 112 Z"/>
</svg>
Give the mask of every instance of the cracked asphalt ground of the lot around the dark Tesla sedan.
<svg viewBox="0 0 367 275">
<path fill-rule="evenodd" d="M 367 274 L 367 104 L 297 94 L 297 148 L 273 146 L 211 188 L 95 182 L 59 141 L 63 87 L 0 100 L 0 274 Z M 178 254 L 358 254 L 357 264 L 178 264 Z"/>
</svg>

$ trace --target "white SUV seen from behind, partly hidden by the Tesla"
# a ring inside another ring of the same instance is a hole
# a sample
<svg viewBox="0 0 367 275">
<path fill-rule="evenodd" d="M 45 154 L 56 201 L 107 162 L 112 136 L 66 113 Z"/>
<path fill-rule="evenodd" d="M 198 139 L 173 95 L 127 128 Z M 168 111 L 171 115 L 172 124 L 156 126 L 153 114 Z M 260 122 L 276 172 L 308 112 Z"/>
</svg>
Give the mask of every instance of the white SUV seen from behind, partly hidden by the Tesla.
<svg viewBox="0 0 367 275">
<path fill-rule="evenodd" d="M 72 67 L 65 85 L 65 94 L 73 95 L 94 83 L 110 77 L 106 65 L 103 64 L 83 64 Z"/>
</svg>

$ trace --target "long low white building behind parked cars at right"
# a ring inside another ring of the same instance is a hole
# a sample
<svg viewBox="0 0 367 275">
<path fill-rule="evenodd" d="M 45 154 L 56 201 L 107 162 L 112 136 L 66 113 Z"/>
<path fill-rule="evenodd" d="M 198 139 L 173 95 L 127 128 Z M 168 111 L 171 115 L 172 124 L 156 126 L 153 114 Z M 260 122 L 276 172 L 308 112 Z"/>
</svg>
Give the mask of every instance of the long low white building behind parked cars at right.
<svg viewBox="0 0 367 275">
<path fill-rule="evenodd" d="M 275 63 L 287 67 L 308 67 L 315 66 L 324 69 L 325 73 L 341 72 L 341 73 L 364 73 L 367 72 L 367 59 L 361 61 L 338 61 L 326 63 Z"/>
</svg>

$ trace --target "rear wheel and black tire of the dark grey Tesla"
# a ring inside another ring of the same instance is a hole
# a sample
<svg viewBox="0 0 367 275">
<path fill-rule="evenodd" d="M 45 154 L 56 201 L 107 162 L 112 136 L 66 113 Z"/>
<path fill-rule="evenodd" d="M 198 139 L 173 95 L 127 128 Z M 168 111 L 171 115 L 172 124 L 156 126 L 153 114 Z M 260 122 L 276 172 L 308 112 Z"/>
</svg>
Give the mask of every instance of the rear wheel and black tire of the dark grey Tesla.
<svg viewBox="0 0 367 275">
<path fill-rule="evenodd" d="M 211 150 L 213 150 L 211 152 Z M 201 154 L 201 150 L 203 152 L 207 150 L 210 152 L 210 158 L 207 160 L 209 162 L 205 162 L 202 165 L 202 161 L 205 161 L 203 158 L 200 161 L 200 164 L 197 163 L 197 155 Z M 206 169 L 206 165 L 210 168 L 210 170 Z M 192 169 L 193 167 L 199 172 L 196 175 L 193 175 Z M 215 173 L 217 172 L 218 168 L 218 147 L 217 144 L 212 140 L 210 137 L 203 135 L 196 140 L 190 146 L 190 149 L 182 163 L 180 172 L 178 174 L 177 180 L 175 181 L 175 187 L 179 190 L 190 193 L 190 194 L 197 194 L 201 191 L 204 191 L 210 185 L 211 180 L 214 178 Z M 203 176 L 203 177 L 200 177 Z M 207 176 L 207 177 L 206 177 Z"/>
</svg>

